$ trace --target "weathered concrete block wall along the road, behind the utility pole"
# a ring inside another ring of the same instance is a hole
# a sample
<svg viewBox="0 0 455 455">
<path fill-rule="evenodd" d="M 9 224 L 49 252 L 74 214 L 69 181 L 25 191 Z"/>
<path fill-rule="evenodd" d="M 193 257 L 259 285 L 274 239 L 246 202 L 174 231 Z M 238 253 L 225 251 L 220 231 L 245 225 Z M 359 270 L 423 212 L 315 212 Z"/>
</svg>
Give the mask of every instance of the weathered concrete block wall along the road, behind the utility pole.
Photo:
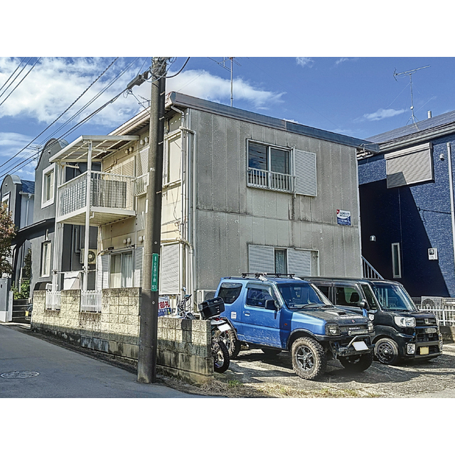
<svg viewBox="0 0 455 455">
<path fill-rule="evenodd" d="M 33 293 L 33 331 L 137 363 L 140 288 L 103 289 L 101 313 L 80 312 L 80 290 L 61 293 L 60 311 L 45 309 L 45 291 Z M 188 382 L 213 377 L 210 323 L 160 317 L 157 369 Z"/>
</svg>

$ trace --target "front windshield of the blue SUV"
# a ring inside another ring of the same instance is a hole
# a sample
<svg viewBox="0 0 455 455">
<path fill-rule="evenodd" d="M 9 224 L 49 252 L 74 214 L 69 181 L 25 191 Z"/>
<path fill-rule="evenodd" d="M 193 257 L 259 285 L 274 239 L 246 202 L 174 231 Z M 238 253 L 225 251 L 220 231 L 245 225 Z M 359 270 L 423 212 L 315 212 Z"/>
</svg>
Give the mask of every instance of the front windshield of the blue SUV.
<svg viewBox="0 0 455 455">
<path fill-rule="evenodd" d="M 280 283 L 277 287 L 284 303 L 292 311 L 299 311 L 309 306 L 333 306 L 314 284 Z"/>
</svg>

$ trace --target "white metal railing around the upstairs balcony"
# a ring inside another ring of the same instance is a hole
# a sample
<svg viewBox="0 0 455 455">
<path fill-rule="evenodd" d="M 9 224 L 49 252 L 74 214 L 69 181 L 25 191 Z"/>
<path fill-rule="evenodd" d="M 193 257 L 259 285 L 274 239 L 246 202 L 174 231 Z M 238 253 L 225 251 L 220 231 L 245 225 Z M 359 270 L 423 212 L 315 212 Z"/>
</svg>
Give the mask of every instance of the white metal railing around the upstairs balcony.
<svg viewBox="0 0 455 455">
<path fill-rule="evenodd" d="M 137 196 L 136 180 L 132 176 L 93 171 L 91 173 L 90 205 L 92 207 L 134 210 L 134 196 Z M 58 216 L 68 215 L 85 208 L 86 195 L 87 172 L 60 185 L 58 187 Z"/>
</svg>

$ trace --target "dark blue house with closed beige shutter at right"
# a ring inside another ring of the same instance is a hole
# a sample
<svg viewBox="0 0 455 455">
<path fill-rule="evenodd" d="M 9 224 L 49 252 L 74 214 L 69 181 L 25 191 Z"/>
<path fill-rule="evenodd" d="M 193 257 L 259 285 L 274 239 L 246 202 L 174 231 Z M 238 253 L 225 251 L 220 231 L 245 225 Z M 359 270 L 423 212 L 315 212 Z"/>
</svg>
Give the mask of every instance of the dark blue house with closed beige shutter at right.
<svg viewBox="0 0 455 455">
<path fill-rule="evenodd" d="M 455 111 L 368 138 L 358 154 L 363 257 L 413 297 L 455 296 Z"/>
</svg>

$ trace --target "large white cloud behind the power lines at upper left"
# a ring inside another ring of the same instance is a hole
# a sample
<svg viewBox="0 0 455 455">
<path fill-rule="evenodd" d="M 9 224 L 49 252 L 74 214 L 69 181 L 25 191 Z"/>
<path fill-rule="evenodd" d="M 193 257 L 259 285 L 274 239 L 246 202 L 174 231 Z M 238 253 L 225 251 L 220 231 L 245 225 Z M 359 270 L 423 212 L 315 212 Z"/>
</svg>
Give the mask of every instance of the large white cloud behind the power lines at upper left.
<svg viewBox="0 0 455 455">
<path fill-rule="evenodd" d="M 82 92 L 92 84 L 112 60 L 112 58 L 41 58 L 20 85 L 17 83 L 23 75 L 26 75 L 31 65 L 23 70 L 4 95 L 0 95 L 0 103 L 4 102 L 1 105 L 0 118 L 28 117 L 43 122 L 43 124 L 53 122 L 80 97 Z M 7 82 L 8 78 L 14 73 L 20 61 L 18 58 L 0 58 L 0 87 L 6 83 L 3 90 L 11 82 L 11 80 Z M 107 87 L 109 82 L 126 66 L 125 60 L 117 60 L 61 120 L 65 121 L 72 117 L 81 107 Z M 102 93 L 78 116 L 78 120 L 87 117 L 95 109 L 111 100 L 136 74 L 137 67 L 133 66 L 127 70 L 117 82 L 114 82 L 112 87 Z M 16 87 L 16 90 L 6 100 L 6 96 L 9 95 L 13 87 Z M 0 90 L 0 93 L 3 90 Z M 109 105 L 97 114 L 91 122 L 107 126 L 119 124 L 132 117 L 138 110 L 137 102 L 132 103 L 130 98 L 120 97 L 114 105 Z"/>
</svg>

